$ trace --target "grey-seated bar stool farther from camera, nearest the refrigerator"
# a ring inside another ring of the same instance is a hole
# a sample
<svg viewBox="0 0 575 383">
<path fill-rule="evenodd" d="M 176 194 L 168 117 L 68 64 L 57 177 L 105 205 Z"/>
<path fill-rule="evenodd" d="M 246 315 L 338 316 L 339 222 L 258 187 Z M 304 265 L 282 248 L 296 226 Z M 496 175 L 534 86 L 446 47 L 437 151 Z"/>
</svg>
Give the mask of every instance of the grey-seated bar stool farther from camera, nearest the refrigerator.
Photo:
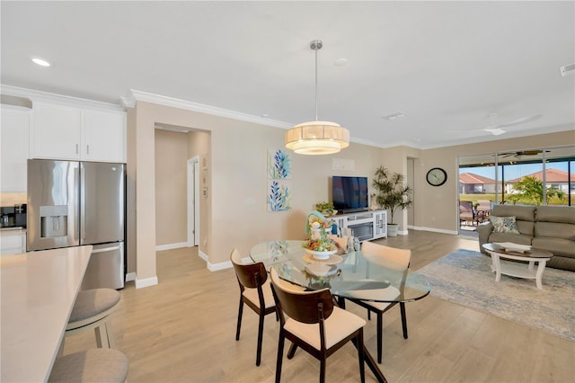
<svg viewBox="0 0 575 383">
<path fill-rule="evenodd" d="M 86 289 L 75 298 L 72 314 L 64 336 L 94 329 L 98 348 L 113 348 L 114 338 L 108 323 L 110 314 L 118 307 L 119 292 L 115 289 Z M 64 351 L 64 341 L 58 355 Z"/>
</svg>

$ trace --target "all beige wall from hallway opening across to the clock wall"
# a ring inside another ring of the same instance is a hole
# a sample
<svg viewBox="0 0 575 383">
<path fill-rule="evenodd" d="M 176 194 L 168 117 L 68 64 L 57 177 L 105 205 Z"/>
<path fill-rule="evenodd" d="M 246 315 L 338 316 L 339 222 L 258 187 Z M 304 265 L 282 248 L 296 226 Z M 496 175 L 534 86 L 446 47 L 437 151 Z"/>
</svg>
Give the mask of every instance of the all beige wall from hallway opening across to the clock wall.
<svg viewBox="0 0 575 383">
<path fill-rule="evenodd" d="M 264 240 L 303 238 L 306 214 L 314 209 L 316 202 L 332 199 L 332 175 L 365 175 L 371 180 L 378 165 L 407 174 L 415 190 L 414 206 L 409 216 L 405 212 L 396 218 L 400 230 L 406 232 L 409 224 L 415 228 L 455 233 L 457 156 L 574 143 L 571 132 L 563 132 L 429 150 L 382 149 L 352 143 L 332 156 L 291 153 L 293 174 L 287 183 L 292 192 L 292 209 L 269 212 L 266 205 L 267 151 L 269 147 L 283 147 L 285 130 L 149 102 L 137 102 L 132 118 L 137 132 L 138 250 L 135 264 L 138 279 L 155 277 L 154 249 L 159 245 L 155 244 L 157 228 L 150 225 L 150 222 L 156 222 L 158 214 L 155 209 L 155 164 L 151 159 L 155 156 L 155 123 L 204 132 L 203 135 L 190 133 L 188 157 L 206 159 L 205 166 L 200 159 L 200 186 L 208 189 L 200 206 L 199 250 L 207 257 L 208 267 L 229 261 L 234 247 L 248 254 L 252 245 Z M 197 135 L 195 139 L 193 134 Z M 349 170 L 334 170 L 333 160 L 346 162 Z M 438 188 L 429 186 L 424 179 L 429 168 L 435 166 L 445 168 L 448 173 L 447 183 Z M 413 218 L 408 222 L 407 218 L 411 216 Z M 172 240 L 179 243 L 185 242 L 186 238 L 181 234 L 181 238 Z"/>
</svg>

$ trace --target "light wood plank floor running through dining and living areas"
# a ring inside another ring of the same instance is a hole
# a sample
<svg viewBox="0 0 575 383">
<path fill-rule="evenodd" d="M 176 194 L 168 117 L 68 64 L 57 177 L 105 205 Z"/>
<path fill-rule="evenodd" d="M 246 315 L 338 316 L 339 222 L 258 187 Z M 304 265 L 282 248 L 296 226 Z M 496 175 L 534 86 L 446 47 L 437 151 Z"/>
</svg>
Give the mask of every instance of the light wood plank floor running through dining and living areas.
<svg viewBox="0 0 575 383">
<path fill-rule="evenodd" d="M 420 267 L 458 248 L 477 249 L 474 239 L 423 231 L 378 240 L 411 248 Z M 230 252 L 234 245 L 230 244 Z M 255 366 L 257 316 L 246 307 L 235 341 L 239 289 L 234 272 L 209 272 L 197 248 L 159 252 L 159 284 L 121 290 L 111 325 L 116 348 L 130 361 L 128 382 L 272 382 L 278 323 L 266 318 L 261 366 Z M 366 312 L 352 304 L 360 316 Z M 573 382 L 575 343 L 524 325 L 429 296 L 407 304 L 409 339 L 399 307 L 385 313 L 384 362 L 390 382 Z M 367 323 L 367 348 L 376 354 L 376 321 Z M 66 338 L 65 353 L 95 347 L 93 332 Z M 287 348 L 285 353 L 287 353 Z M 284 353 L 284 355 L 285 355 Z M 282 381 L 315 382 L 318 363 L 298 350 L 284 360 Z M 366 370 L 367 382 L 375 381 Z M 351 344 L 328 360 L 328 382 L 359 380 Z"/>
</svg>

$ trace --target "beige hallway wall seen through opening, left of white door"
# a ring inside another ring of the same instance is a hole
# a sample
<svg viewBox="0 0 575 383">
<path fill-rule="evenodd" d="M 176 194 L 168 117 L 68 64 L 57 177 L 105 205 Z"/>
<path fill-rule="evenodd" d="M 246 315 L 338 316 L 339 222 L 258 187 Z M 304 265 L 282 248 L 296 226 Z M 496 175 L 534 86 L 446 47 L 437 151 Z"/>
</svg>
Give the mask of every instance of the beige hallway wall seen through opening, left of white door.
<svg viewBox="0 0 575 383">
<path fill-rule="evenodd" d="M 188 135 L 155 129 L 155 245 L 186 242 Z"/>
</svg>

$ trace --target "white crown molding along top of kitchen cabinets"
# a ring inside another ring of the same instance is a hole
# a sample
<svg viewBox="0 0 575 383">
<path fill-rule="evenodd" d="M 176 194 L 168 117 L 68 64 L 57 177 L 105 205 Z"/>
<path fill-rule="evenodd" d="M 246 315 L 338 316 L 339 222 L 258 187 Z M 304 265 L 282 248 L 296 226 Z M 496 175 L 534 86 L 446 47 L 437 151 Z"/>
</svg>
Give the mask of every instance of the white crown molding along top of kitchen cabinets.
<svg viewBox="0 0 575 383">
<path fill-rule="evenodd" d="M 32 89 L 19 88 L 11 85 L 0 85 L 0 93 L 12 95 L 17 97 L 28 98 L 32 104 L 36 102 L 54 102 L 65 105 L 75 105 L 77 107 L 103 109 L 107 111 L 124 111 L 124 108 L 119 104 L 98 102 L 87 100 L 79 97 L 71 97 L 62 94 L 51 94 L 49 92 L 41 92 Z"/>
</svg>

